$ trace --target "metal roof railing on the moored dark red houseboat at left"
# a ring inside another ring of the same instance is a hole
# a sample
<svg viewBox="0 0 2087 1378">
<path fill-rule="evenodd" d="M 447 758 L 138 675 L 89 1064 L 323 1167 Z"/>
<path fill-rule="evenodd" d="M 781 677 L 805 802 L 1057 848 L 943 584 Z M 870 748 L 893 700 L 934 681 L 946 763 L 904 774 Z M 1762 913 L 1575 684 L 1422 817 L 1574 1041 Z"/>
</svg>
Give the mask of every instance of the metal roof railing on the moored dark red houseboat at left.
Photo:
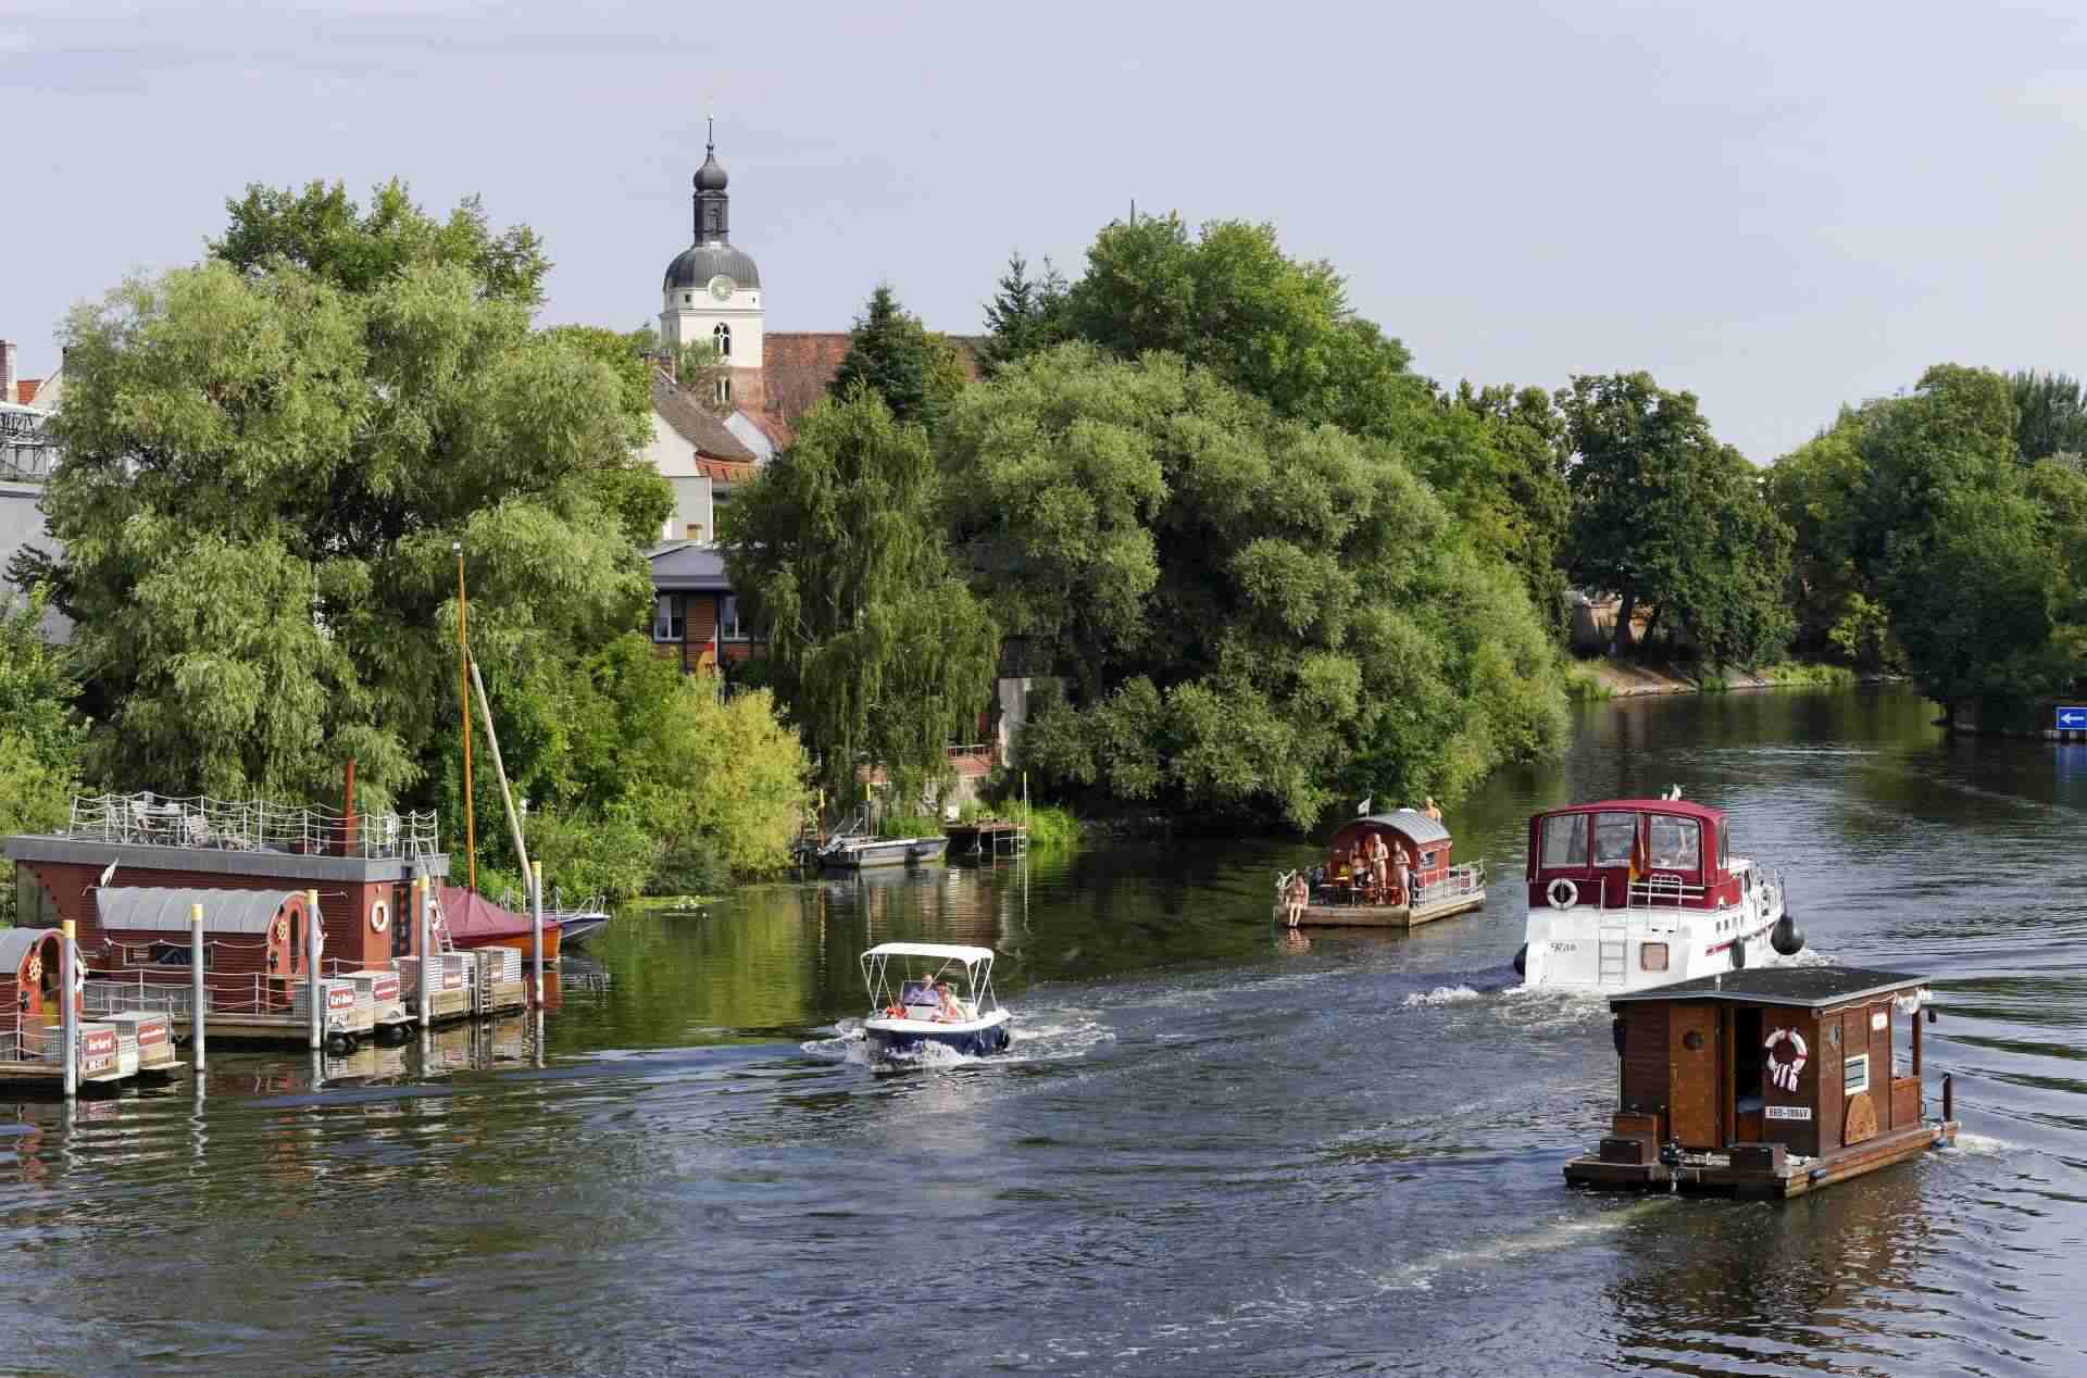
<svg viewBox="0 0 2087 1378">
<path fill-rule="evenodd" d="M 305 856 L 419 858 L 438 852 L 432 810 L 346 816 L 269 800 L 167 798 L 150 791 L 75 795 L 63 835 Z"/>
</svg>

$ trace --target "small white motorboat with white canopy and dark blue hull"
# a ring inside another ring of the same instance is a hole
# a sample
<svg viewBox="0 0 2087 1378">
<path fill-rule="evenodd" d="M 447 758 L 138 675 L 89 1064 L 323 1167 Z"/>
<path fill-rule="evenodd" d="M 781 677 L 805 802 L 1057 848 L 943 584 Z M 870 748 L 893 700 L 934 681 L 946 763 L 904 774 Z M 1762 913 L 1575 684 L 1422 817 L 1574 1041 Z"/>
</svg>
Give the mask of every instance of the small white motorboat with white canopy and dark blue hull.
<svg viewBox="0 0 2087 1378">
<path fill-rule="evenodd" d="M 862 954 L 870 1013 L 862 1034 L 879 1061 L 916 1056 L 927 1044 L 981 1056 L 1004 1052 L 1014 1017 L 993 994 L 993 950 L 887 942 Z"/>
</svg>

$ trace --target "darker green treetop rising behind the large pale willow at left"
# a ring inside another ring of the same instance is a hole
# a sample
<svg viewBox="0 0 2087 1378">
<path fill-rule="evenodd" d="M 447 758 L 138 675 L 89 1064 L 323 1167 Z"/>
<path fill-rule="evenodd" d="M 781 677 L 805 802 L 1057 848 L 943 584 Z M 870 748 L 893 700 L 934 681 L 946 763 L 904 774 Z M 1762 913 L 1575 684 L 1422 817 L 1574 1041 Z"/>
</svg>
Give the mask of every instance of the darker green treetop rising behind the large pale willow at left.
<svg viewBox="0 0 2087 1378">
<path fill-rule="evenodd" d="M 301 192 L 257 182 L 225 200 L 225 213 L 232 225 L 211 240 L 213 259 L 244 274 L 290 263 L 344 292 L 374 292 L 409 267 L 451 265 L 482 296 L 534 307 L 551 271 L 528 225 L 495 232 L 476 196 L 434 219 L 399 177 L 371 188 L 367 211 L 340 182 L 309 182 Z"/>
</svg>

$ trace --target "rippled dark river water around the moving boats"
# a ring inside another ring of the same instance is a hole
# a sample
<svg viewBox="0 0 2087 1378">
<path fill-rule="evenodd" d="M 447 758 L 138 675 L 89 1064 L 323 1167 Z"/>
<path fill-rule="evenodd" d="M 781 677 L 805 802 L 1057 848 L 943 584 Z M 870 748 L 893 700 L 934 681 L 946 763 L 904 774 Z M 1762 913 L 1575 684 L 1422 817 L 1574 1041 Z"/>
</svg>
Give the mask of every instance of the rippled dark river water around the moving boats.
<svg viewBox="0 0 2087 1378">
<path fill-rule="evenodd" d="M 1450 814 L 1490 904 L 1413 935 L 1284 944 L 1290 841 L 766 885 L 622 917 L 541 1048 L 0 1107 L 0 1370 L 2087 1372 L 2087 747 L 1930 716 L 1590 706 Z M 1814 958 L 1937 973 L 1962 1146 L 1780 1205 L 1563 1188 L 1615 1061 L 1515 990 L 1526 818 L 1670 783 Z M 995 946 L 1012 1054 L 872 1075 L 893 937 Z"/>
</svg>

